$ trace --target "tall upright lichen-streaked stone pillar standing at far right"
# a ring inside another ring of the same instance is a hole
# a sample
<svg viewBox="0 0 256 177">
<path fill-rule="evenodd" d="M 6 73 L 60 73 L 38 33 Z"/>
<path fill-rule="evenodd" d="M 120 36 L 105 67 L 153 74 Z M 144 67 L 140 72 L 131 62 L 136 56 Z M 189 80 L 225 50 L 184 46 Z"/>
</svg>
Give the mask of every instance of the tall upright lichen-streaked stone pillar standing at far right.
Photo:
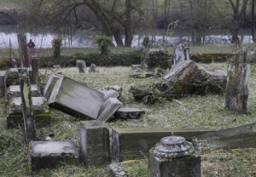
<svg viewBox="0 0 256 177">
<path fill-rule="evenodd" d="M 225 107 L 237 113 L 247 112 L 250 64 L 247 51 L 241 50 L 228 63 Z"/>
</svg>

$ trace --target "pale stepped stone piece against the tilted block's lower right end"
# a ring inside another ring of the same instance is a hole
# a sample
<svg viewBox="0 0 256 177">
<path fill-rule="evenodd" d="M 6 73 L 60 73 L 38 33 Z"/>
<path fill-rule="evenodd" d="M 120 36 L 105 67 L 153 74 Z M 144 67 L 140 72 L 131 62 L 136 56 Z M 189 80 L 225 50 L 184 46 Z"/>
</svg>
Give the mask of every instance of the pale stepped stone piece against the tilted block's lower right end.
<svg viewBox="0 0 256 177">
<path fill-rule="evenodd" d="M 108 119 L 113 116 L 114 112 L 117 111 L 121 106 L 122 103 L 118 99 L 108 98 L 108 100 L 102 104 L 97 120 L 101 122 L 108 121 Z"/>
</svg>

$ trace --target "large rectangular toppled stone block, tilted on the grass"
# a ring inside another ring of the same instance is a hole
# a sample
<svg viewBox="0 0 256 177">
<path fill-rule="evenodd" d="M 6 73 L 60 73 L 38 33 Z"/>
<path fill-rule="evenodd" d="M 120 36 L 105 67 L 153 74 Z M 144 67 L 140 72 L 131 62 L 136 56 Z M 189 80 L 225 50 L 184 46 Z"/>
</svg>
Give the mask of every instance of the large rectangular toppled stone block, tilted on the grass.
<svg viewBox="0 0 256 177">
<path fill-rule="evenodd" d="M 48 83 L 47 83 L 48 84 Z M 60 76 L 48 103 L 73 117 L 96 119 L 102 107 L 104 94 L 68 77 Z"/>
</svg>

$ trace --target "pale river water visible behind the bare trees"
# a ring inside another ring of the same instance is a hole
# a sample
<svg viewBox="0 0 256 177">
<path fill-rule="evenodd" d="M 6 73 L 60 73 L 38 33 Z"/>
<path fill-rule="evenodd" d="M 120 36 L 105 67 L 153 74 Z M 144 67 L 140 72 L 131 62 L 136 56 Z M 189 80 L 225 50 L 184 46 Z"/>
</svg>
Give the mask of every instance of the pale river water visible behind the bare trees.
<svg viewBox="0 0 256 177">
<path fill-rule="evenodd" d="M 247 32 L 248 33 L 248 32 Z M 239 36 L 241 43 L 253 43 L 252 36 L 244 33 L 242 36 Z M 77 31 L 72 39 L 67 35 L 61 35 L 63 38 L 62 47 L 74 47 L 74 48 L 95 48 L 96 42 L 93 39 L 96 36 L 96 32 L 91 31 L 90 33 Z M 32 39 L 36 44 L 38 49 L 51 48 L 51 42 L 55 37 L 60 37 L 59 35 L 49 32 L 49 31 L 37 31 L 36 33 L 26 33 L 27 41 Z M 134 35 L 131 47 L 137 48 L 141 47 L 143 43 L 144 35 Z M 178 43 L 191 44 L 191 37 L 188 33 L 179 34 L 179 36 L 165 37 L 162 34 L 154 33 L 154 35 L 148 35 L 152 41 L 152 46 L 160 47 L 164 43 L 167 43 L 168 46 L 174 46 Z M 229 34 L 214 34 L 207 35 L 205 37 L 205 43 L 213 44 L 228 44 L 231 42 L 231 36 Z M 113 42 L 114 43 L 114 42 Z M 17 33 L 15 31 L 15 26 L 0 26 L 0 48 L 18 48 Z"/>
</svg>

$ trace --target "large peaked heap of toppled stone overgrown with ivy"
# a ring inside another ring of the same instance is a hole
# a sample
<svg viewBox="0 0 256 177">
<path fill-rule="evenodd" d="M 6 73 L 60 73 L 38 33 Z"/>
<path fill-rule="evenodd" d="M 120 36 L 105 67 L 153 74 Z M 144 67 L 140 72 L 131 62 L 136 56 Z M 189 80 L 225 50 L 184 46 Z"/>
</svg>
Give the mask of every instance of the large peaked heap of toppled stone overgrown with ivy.
<svg viewBox="0 0 256 177">
<path fill-rule="evenodd" d="M 130 92 L 137 100 L 143 100 L 144 97 L 146 99 L 148 97 L 150 100 L 160 97 L 172 100 L 189 94 L 224 93 L 224 84 L 219 83 L 225 82 L 226 77 L 224 74 L 218 75 L 215 71 L 205 71 L 199 69 L 195 65 L 195 61 L 182 60 L 153 86 L 133 87 Z"/>
</svg>

